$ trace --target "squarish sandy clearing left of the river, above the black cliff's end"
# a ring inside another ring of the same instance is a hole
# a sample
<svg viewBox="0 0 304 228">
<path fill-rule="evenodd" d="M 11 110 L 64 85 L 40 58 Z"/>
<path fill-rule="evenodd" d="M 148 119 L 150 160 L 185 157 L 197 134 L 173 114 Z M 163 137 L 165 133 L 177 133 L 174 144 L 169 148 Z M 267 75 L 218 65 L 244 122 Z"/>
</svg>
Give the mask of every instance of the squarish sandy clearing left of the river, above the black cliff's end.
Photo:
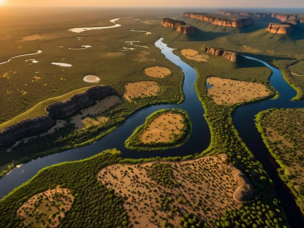
<svg viewBox="0 0 304 228">
<path fill-rule="evenodd" d="M 136 97 L 154 96 L 160 90 L 158 84 L 154 81 L 138 81 L 133 83 L 127 83 L 125 85 L 126 92 L 124 97 L 131 101 Z"/>
</svg>

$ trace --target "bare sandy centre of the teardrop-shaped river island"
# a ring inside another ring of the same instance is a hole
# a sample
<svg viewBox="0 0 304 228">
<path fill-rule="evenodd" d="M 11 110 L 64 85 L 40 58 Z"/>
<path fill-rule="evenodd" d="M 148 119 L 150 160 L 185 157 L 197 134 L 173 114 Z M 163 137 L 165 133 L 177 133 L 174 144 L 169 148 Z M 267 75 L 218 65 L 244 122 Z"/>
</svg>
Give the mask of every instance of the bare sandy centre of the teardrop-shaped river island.
<svg viewBox="0 0 304 228">
<path fill-rule="evenodd" d="M 140 139 L 143 143 L 169 142 L 172 134 L 179 135 L 184 126 L 184 117 L 181 114 L 164 112 L 149 124 Z"/>
</svg>

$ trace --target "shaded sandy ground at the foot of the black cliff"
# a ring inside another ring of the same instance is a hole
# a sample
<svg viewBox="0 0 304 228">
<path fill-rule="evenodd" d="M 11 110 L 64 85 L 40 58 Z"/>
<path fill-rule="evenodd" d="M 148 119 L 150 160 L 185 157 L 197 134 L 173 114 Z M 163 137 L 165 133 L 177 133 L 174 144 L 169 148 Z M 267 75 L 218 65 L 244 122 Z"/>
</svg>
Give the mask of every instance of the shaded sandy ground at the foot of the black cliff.
<svg viewBox="0 0 304 228">
<path fill-rule="evenodd" d="M 96 101 L 95 105 L 81 110 L 82 114 L 71 117 L 71 123 L 75 124 L 77 130 L 80 130 L 88 125 L 105 123 L 108 119 L 100 115 L 102 115 L 112 106 L 121 102 L 122 100 L 116 95 L 111 95 L 103 100 L 98 100 Z"/>
</svg>

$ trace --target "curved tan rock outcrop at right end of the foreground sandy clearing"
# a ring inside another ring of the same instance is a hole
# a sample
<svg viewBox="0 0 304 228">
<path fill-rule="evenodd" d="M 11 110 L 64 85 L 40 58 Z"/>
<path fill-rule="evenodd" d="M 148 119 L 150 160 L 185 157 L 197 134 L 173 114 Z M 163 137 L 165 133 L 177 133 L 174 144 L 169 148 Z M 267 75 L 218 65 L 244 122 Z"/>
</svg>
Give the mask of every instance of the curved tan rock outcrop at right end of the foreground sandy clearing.
<svg viewBox="0 0 304 228">
<path fill-rule="evenodd" d="M 253 196 L 253 186 L 248 178 L 238 169 L 233 169 L 232 176 L 239 185 L 233 193 L 233 200 L 239 204 L 243 201 L 250 200 Z"/>
</svg>

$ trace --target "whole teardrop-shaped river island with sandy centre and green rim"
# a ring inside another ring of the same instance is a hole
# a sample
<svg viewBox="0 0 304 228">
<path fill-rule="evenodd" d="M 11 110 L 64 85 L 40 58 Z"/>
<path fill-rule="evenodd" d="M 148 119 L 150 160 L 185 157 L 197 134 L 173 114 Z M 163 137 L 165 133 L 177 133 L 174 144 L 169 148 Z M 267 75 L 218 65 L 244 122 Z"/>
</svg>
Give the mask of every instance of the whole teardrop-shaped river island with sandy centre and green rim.
<svg viewBox="0 0 304 228">
<path fill-rule="evenodd" d="M 185 110 L 161 109 L 134 130 L 125 146 L 139 151 L 166 150 L 185 143 L 191 131 L 192 123 Z"/>
</svg>

